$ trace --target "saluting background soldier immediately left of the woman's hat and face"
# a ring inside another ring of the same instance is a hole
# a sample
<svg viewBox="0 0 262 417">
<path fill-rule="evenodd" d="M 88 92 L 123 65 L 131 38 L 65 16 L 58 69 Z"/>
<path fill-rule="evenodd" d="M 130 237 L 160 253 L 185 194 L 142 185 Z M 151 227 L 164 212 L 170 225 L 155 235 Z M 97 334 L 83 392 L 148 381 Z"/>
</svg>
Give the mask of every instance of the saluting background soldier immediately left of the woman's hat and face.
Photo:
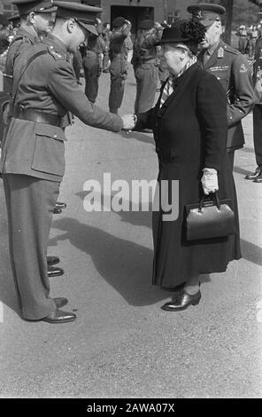
<svg viewBox="0 0 262 417">
<path fill-rule="evenodd" d="M 163 29 L 153 20 L 142 20 L 135 39 L 133 58 L 136 80 L 135 114 L 152 108 L 158 88 L 158 50 Z"/>
</svg>

